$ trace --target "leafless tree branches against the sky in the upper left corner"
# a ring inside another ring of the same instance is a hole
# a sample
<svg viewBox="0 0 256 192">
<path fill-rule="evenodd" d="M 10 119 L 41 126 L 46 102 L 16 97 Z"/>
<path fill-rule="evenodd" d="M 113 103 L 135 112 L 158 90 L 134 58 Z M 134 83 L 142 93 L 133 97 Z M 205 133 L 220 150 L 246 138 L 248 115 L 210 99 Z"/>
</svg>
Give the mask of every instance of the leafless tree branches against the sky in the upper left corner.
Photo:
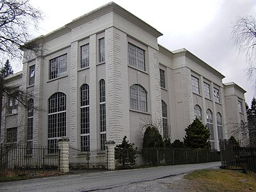
<svg viewBox="0 0 256 192">
<path fill-rule="evenodd" d="M 42 20 L 42 12 L 29 4 L 29 0 L 0 1 L 0 63 L 7 58 L 21 61 L 22 50 L 40 51 L 29 32 Z"/>
</svg>

